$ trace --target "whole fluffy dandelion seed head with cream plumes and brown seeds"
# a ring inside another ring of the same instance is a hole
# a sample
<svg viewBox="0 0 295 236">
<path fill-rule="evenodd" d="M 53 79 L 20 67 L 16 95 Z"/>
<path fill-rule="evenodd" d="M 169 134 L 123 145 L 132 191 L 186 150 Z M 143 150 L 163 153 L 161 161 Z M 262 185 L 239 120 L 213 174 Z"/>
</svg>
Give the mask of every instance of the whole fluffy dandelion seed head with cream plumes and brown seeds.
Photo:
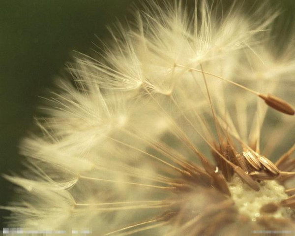
<svg viewBox="0 0 295 236">
<path fill-rule="evenodd" d="M 279 50 L 263 2 L 149 2 L 97 58 L 79 55 L 23 139 L 28 170 L 6 176 L 20 186 L 10 226 L 294 232 L 295 45 Z"/>
</svg>

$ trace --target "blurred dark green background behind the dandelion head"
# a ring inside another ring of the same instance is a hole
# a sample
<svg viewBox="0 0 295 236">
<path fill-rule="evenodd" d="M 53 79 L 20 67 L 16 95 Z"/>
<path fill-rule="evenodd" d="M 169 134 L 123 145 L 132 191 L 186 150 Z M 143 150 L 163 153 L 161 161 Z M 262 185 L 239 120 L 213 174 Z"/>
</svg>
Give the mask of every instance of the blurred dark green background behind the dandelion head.
<svg viewBox="0 0 295 236">
<path fill-rule="evenodd" d="M 18 143 L 33 124 L 37 96 L 72 60 L 72 51 L 88 53 L 94 48 L 91 42 L 98 41 L 94 34 L 106 37 L 105 25 L 130 14 L 132 5 L 142 1 L 0 0 L 0 173 L 22 169 Z M 285 11 L 278 30 L 288 32 L 295 0 L 280 3 Z M 12 189 L 0 177 L 0 205 L 11 199 Z M 7 215 L 0 210 L 0 228 Z"/>
</svg>

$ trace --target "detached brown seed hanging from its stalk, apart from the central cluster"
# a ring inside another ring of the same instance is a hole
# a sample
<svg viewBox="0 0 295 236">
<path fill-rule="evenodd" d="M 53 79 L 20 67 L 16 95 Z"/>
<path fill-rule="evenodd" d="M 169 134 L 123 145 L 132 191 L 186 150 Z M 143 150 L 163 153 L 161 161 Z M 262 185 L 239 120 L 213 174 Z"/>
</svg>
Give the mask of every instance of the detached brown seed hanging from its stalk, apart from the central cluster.
<svg viewBox="0 0 295 236">
<path fill-rule="evenodd" d="M 295 110 L 287 101 L 277 98 L 271 94 L 259 94 L 258 96 L 262 98 L 266 102 L 266 104 L 272 107 L 273 109 L 276 109 L 288 115 L 295 114 Z"/>
</svg>

